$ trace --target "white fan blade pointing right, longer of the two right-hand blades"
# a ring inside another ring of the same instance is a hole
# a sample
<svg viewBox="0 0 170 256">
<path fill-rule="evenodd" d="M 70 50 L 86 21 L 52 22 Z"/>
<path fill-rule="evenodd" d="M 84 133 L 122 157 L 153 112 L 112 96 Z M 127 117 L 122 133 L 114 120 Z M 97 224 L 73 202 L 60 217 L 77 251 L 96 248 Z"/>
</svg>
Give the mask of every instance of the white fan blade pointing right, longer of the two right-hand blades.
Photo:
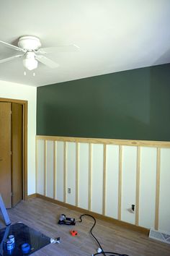
<svg viewBox="0 0 170 256">
<path fill-rule="evenodd" d="M 50 54 L 50 53 L 61 53 L 61 52 L 74 52 L 79 51 L 79 46 L 75 44 L 69 46 L 54 46 L 54 47 L 46 47 L 40 48 L 37 53 L 40 54 Z"/>
</svg>

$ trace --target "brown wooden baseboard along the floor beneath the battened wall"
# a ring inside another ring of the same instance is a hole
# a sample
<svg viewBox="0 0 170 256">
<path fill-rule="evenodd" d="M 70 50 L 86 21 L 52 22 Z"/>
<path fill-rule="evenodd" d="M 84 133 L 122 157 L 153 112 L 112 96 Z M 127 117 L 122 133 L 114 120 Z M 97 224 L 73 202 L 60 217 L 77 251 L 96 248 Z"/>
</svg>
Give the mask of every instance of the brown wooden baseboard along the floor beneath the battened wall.
<svg viewBox="0 0 170 256">
<path fill-rule="evenodd" d="M 46 200 L 48 202 L 53 202 L 53 203 L 55 203 L 57 205 L 61 205 L 63 207 L 71 209 L 71 210 L 76 210 L 76 211 L 78 211 L 80 213 L 90 214 L 90 215 L 94 216 L 95 218 L 98 218 L 99 220 L 107 221 L 107 222 L 113 223 L 113 224 L 115 224 L 117 226 L 122 226 L 125 229 L 130 229 L 130 230 L 133 230 L 133 231 L 137 231 L 137 232 L 146 234 L 147 236 L 149 234 L 149 229 L 143 228 L 142 226 L 135 226 L 135 225 L 127 223 L 125 221 L 119 221 L 119 220 L 116 220 L 115 218 L 110 218 L 110 217 L 107 217 L 107 216 L 103 216 L 102 214 L 99 214 L 99 213 L 94 213 L 92 211 L 76 207 L 74 205 L 69 205 L 66 202 L 61 202 L 61 201 L 55 200 L 55 199 L 50 198 L 50 197 L 45 197 L 45 195 L 32 194 L 32 195 L 28 196 L 29 199 L 30 198 L 32 199 L 32 198 L 35 198 L 35 197 L 41 198 L 41 199 Z"/>
</svg>

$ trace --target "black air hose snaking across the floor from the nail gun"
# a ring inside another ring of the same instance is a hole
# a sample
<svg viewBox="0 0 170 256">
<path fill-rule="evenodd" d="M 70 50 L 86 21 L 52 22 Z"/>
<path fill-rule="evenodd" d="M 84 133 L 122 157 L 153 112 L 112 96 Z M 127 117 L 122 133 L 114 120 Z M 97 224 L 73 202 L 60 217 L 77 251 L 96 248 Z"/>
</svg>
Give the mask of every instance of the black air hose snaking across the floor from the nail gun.
<svg viewBox="0 0 170 256">
<path fill-rule="evenodd" d="M 96 237 L 94 236 L 94 234 L 92 233 L 92 230 L 94 229 L 94 226 L 95 226 L 96 223 L 97 223 L 97 221 L 96 221 L 96 219 L 94 218 L 94 216 L 91 216 L 91 215 L 89 215 L 89 214 L 82 214 L 82 215 L 79 217 L 79 218 L 80 218 L 80 221 L 76 221 L 76 222 L 82 222 L 82 221 L 83 221 L 83 220 L 82 220 L 82 217 L 84 217 L 84 216 L 89 216 L 89 217 L 93 218 L 94 224 L 93 224 L 93 226 L 92 226 L 91 229 L 90 229 L 90 234 L 91 234 L 91 236 L 93 236 L 93 238 L 96 240 L 97 244 L 99 245 L 99 248 L 102 249 L 102 252 L 97 252 L 97 253 L 95 253 L 93 256 L 95 256 L 95 255 L 104 255 L 104 256 L 107 256 L 108 254 L 111 254 L 111 255 L 108 255 L 108 256 L 115 256 L 115 255 L 119 255 L 119 256 L 129 256 L 129 255 L 120 255 L 120 253 L 117 253 L 117 252 L 104 252 L 104 250 L 103 250 L 101 244 L 99 243 L 99 241 L 97 240 L 97 238 L 96 238 Z"/>
</svg>

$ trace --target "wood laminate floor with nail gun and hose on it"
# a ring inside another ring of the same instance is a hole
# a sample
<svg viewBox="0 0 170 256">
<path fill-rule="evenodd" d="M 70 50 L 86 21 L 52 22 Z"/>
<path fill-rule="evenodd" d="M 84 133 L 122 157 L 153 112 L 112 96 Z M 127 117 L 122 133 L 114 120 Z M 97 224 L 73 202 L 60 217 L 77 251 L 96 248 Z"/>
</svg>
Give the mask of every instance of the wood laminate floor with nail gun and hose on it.
<svg viewBox="0 0 170 256">
<path fill-rule="evenodd" d="M 67 217 L 79 221 L 81 213 L 63 208 L 40 198 L 30 199 L 8 210 L 12 223 L 22 221 L 27 226 L 41 231 L 50 237 L 61 237 L 60 244 L 49 244 L 32 256 L 90 256 L 97 252 L 97 243 L 89 234 L 94 221 L 84 217 L 82 223 L 76 226 L 60 226 L 58 219 L 62 213 Z M 0 224 L 3 221 L 0 216 Z M 70 231 L 75 229 L 78 236 L 71 236 Z M 97 219 L 94 234 L 106 251 L 127 254 L 130 256 L 170 256 L 170 245 L 156 242 L 148 236 L 135 231 L 115 226 L 112 223 Z"/>
</svg>

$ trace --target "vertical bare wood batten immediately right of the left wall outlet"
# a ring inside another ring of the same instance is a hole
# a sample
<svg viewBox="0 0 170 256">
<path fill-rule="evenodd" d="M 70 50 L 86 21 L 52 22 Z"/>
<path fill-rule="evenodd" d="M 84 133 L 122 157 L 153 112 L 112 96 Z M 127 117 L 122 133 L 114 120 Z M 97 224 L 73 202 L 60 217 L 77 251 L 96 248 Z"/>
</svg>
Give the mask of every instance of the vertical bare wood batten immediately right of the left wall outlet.
<svg viewBox="0 0 170 256">
<path fill-rule="evenodd" d="M 76 142 L 76 206 L 79 206 L 79 143 Z"/>
</svg>

